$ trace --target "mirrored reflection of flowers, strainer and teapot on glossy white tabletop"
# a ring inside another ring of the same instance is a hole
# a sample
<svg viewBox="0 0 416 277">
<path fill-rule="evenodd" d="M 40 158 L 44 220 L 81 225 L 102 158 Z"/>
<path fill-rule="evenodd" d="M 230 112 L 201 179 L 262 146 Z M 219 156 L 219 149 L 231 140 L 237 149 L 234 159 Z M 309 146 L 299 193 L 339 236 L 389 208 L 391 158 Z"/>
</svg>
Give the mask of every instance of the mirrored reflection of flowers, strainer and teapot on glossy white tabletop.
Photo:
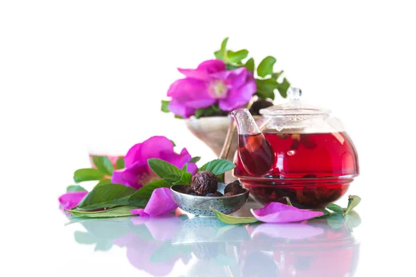
<svg viewBox="0 0 416 277">
<path fill-rule="evenodd" d="M 88 262 L 114 259 L 94 269 L 99 276 L 122 264 L 123 273 L 135 276 L 335 277 L 354 276 L 359 267 L 360 242 L 352 231 L 360 228 L 360 220 L 358 215 L 350 219 L 243 226 L 177 211 L 153 219 L 73 219 L 65 231 L 78 253 L 89 253 Z M 71 257 L 75 265 L 83 262 Z M 71 276 L 76 271 L 70 267 L 63 272 Z"/>
</svg>

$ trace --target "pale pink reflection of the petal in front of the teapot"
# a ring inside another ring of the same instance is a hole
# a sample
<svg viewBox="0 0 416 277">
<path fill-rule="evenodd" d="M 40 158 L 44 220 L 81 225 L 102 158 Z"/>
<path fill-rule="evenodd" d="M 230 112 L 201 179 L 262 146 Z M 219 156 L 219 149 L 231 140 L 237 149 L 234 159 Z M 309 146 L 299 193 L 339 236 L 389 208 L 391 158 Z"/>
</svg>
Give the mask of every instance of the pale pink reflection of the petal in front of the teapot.
<svg viewBox="0 0 416 277">
<path fill-rule="evenodd" d="M 324 229 L 309 224 L 288 223 L 288 224 L 259 224 L 252 232 L 252 238 L 263 234 L 270 238 L 285 238 L 288 240 L 304 240 L 324 233 Z"/>
</svg>

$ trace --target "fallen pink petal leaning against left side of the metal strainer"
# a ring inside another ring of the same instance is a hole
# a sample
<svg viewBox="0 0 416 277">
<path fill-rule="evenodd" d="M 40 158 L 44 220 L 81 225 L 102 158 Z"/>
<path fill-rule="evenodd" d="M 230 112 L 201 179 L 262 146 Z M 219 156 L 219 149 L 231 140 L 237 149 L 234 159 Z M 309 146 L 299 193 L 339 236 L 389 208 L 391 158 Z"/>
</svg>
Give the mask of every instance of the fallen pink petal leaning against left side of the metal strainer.
<svg viewBox="0 0 416 277">
<path fill-rule="evenodd" d="M 156 217 L 157 215 L 172 213 L 176 208 L 177 205 L 172 199 L 171 189 L 156 188 L 153 190 L 146 208 L 136 208 L 131 210 L 131 213 L 142 217 Z"/>
</svg>

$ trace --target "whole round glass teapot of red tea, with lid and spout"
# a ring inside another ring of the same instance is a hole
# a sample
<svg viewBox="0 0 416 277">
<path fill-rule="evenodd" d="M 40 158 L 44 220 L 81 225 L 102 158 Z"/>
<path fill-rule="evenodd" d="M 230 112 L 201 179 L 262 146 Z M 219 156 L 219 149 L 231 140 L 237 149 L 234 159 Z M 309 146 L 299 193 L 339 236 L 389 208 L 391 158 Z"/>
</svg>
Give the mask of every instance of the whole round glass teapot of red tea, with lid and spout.
<svg viewBox="0 0 416 277">
<path fill-rule="evenodd" d="M 302 91 L 288 90 L 288 103 L 232 111 L 239 132 L 234 176 L 258 202 L 288 197 L 299 208 L 323 208 L 340 198 L 358 176 L 354 144 L 330 111 L 305 105 Z"/>
</svg>

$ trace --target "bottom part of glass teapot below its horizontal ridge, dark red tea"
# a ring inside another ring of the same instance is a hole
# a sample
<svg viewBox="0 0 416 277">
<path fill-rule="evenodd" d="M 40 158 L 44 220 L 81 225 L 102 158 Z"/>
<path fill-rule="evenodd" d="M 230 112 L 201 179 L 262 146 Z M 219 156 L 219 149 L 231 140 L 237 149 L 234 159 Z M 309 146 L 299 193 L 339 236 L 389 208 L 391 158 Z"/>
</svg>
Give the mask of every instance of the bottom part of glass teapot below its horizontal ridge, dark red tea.
<svg viewBox="0 0 416 277">
<path fill-rule="evenodd" d="M 270 179 L 261 181 L 241 178 L 241 185 L 250 190 L 250 196 L 261 204 L 281 202 L 288 197 L 297 208 L 325 208 L 342 197 L 353 177 Z"/>
</svg>

